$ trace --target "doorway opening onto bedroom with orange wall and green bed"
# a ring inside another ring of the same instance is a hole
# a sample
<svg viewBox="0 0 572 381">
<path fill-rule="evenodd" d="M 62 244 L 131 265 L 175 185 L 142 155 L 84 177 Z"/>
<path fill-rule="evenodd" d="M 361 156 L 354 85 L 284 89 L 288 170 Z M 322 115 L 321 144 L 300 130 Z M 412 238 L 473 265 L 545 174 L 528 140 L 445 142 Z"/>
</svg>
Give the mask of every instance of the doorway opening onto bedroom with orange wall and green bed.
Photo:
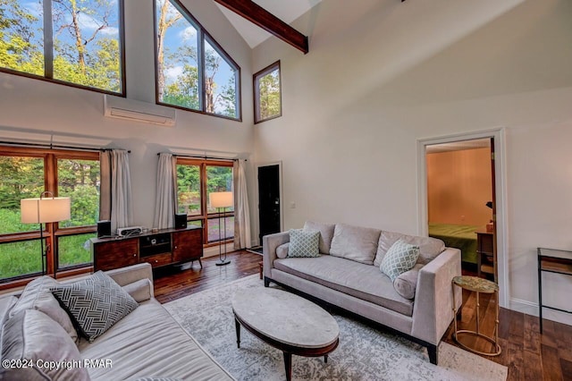
<svg viewBox="0 0 572 381">
<path fill-rule="evenodd" d="M 494 140 L 425 147 L 430 237 L 461 250 L 465 274 L 496 281 L 494 256 Z"/>
</svg>

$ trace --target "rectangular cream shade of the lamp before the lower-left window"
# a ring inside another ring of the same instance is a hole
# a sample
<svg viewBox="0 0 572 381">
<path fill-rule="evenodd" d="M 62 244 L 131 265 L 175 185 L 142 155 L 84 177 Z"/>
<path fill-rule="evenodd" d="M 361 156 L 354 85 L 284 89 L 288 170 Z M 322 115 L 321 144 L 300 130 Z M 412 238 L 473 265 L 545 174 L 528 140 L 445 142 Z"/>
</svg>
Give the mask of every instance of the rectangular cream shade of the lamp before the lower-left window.
<svg viewBox="0 0 572 381">
<path fill-rule="evenodd" d="M 21 199 L 20 210 L 23 224 L 63 221 L 71 217 L 71 201 L 69 197 Z"/>
</svg>

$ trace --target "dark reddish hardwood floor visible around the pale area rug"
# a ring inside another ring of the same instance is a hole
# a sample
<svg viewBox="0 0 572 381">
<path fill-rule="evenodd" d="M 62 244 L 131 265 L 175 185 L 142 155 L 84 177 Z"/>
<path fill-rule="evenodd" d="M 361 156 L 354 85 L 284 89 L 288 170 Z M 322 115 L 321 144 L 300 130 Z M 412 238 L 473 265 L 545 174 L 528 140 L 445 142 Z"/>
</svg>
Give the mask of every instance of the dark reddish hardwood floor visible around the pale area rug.
<svg viewBox="0 0 572 381">
<path fill-rule="evenodd" d="M 258 274 L 258 262 L 262 257 L 248 251 L 229 254 L 231 264 L 215 266 L 218 258 L 206 258 L 203 268 L 198 262 L 189 270 L 164 269 L 156 271 L 155 294 L 162 303 L 173 301 L 191 293 L 225 284 L 244 276 Z M 475 294 L 463 294 L 463 309 L 458 319 L 458 328 L 475 327 Z M 492 335 L 495 303 L 487 295 L 481 295 L 481 331 Z M 487 359 L 506 365 L 509 368 L 509 381 L 520 380 L 572 380 L 572 326 L 544 320 L 543 334 L 540 334 L 538 318 L 501 309 L 499 341 L 501 355 Z M 452 340 L 453 325 L 445 334 L 444 341 L 458 346 Z M 475 344 L 480 351 L 490 351 L 489 343 L 479 339 Z"/>
</svg>

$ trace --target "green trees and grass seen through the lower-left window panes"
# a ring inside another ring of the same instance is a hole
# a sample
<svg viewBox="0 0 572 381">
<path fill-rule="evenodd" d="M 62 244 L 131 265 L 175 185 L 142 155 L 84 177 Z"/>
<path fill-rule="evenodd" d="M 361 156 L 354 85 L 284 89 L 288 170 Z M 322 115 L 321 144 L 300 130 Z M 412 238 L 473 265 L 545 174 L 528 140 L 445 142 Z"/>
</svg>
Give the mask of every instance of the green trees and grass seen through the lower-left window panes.
<svg viewBox="0 0 572 381">
<path fill-rule="evenodd" d="M 99 207 L 99 162 L 58 159 L 58 195 L 71 198 L 71 219 L 60 226 L 93 225 Z M 44 190 L 44 159 L 0 157 L 0 234 L 39 229 L 22 224 L 20 199 L 37 198 Z M 58 237 L 59 267 L 91 261 L 88 239 L 94 233 Z M 39 240 L 0 244 L 0 279 L 37 273 L 41 269 Z"/>
</svg>

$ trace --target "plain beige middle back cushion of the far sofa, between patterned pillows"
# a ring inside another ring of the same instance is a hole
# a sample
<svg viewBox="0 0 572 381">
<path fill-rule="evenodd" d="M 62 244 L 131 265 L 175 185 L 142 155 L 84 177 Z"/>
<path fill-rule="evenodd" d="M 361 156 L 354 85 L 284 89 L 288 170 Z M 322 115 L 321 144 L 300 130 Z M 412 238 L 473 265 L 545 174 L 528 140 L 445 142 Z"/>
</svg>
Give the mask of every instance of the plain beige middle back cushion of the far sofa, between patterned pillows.
<svg viewBox="0 0 572 381">
<path fill-rule="evenodd" d="M 373 265 L 380 233 L 370 227 L 336 224 L 330 255 Z"/>
</svg>

